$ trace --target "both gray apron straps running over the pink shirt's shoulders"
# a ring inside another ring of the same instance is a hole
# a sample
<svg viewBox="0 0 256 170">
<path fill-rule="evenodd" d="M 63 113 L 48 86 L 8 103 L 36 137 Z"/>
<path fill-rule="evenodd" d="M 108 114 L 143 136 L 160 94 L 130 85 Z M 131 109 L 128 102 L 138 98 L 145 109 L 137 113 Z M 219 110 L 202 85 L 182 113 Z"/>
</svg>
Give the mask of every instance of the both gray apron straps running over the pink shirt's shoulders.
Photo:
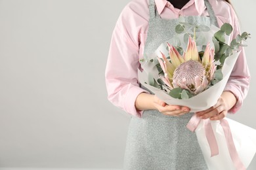
<svg viewBox="0 0 256 170">
<path fill-rule="evenodd" d="M 149 12 L 150 12 L 150 19 L 154 19 L 154 18 L 161 18 L 160 17 L 160 14 L 158 14 L 158 11 L 156 9 L 156 3 L 154 0 L 150 0 L 149 1 Z M 219 24 L 217 22 L 217 18 L 215 16 L 215 13 L 213 11 L 213 7 L 211 7 L 211 4 L 209 3 L 208 0 L 204 0 L 204 3 L 205 3 L 205 7 L 209 13 L 209 17 L 210 17 L 210 20 L 211 20 L 211 24 L 219 27 Z"/>
</svg>

